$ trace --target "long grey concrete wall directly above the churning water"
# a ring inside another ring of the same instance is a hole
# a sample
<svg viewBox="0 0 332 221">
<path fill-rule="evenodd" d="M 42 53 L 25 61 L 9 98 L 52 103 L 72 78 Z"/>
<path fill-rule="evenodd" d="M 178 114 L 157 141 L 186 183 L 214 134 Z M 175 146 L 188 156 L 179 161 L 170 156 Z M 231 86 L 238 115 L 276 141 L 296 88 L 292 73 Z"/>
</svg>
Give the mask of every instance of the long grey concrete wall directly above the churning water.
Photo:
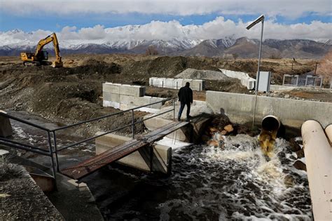
<svg viewBox="0 0 332 221">
<path fill-rule="evenodd" d="M 254 95 L 207 91 L 206 101 L 214 113 L 223 109 L 235 123 L 252 121 Z M 258 96 L 256 121 L 261 121 L 268 114 L 278 116 L 287 126 L 300 128 L 304 121 L 314 119 L 325 127 L 332 123 L 332 103 Z"/>
</svg>

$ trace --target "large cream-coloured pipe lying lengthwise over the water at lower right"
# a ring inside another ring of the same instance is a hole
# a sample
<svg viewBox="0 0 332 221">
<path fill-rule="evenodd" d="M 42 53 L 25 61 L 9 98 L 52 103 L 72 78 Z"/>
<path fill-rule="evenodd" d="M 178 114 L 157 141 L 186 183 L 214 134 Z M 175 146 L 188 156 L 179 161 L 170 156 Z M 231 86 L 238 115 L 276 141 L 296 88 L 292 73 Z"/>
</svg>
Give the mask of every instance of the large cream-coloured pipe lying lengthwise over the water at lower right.
<svg viewBox="0 0 332 221">
<path fill-rule="evenodd" d="M 317 121 L 301 127 L 314 220 L 332 220 L 332 148 Z"/>
</svg>

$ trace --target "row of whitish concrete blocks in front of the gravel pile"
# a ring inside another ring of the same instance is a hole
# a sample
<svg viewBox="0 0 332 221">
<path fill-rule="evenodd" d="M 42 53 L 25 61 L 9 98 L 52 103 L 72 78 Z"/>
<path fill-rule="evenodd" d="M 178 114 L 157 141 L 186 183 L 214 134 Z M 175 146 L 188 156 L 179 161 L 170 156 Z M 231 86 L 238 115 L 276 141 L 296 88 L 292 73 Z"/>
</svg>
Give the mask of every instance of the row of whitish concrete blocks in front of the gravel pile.
<svg viewBox="0 0 332 221">
<path fill-rule="evenodd" d="M 193 79 L 166 79 L 151 77 L 149 80 L 150 86 L 160 87 L 160 88 L 172 88 L 179 89 L 186 85 L 186 82 L 191 83 L 191 89 L 193 91 L 203 91 L 205 90 L 204 80 L 193 80 Z"/>
</svg>

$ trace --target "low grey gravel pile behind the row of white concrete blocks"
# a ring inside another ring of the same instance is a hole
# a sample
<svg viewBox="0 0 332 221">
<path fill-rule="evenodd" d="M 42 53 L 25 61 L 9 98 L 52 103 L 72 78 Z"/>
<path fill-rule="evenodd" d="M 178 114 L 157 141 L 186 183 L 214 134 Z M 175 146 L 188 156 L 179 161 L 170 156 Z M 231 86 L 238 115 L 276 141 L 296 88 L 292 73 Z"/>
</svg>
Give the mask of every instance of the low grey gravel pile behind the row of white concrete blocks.
<svg viewBox="0 0 332 221">
<path fill-rule="evenodd" d="M 222 72 L 215 71 L 205 71 L 188 68 L 183 72 L 175 76 L 176 79 L 203 79 L 203 80 L 222 80 L 222 79 L 230 79 L 230 77 L 226 76 Z"/>
</svg>

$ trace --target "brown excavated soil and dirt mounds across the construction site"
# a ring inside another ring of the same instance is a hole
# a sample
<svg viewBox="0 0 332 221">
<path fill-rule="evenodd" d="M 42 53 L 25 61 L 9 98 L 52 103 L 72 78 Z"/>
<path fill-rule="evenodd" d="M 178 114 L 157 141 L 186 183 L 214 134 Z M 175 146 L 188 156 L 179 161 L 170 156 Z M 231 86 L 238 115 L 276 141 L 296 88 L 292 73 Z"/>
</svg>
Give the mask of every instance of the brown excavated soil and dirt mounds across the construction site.
<svg viewBox="0 0 332 221">
<path fill-rule="evenodd" d="M 146 86 L 146 95 L 171 98 L 177 90 L 148 86 L 148 78 L 174 77 L 188 68 L 212 70 L 219 68 L 247 72 L 255 76 L 256 60 L 224 60 L 201 57 L 156 57 L 148 55 L 67 55 L 64 67 L 25 67 L 19 58 L 0 58 L 0 109 L 25 110 L 61 123 L 74 123 L 118 112 L 102 107 L 102 83 L 130 83 Z M 303 74 L 316 65 L 314 60 L 263 60 L 261 69 L 272 72 L 272 83 L 282 83 L 284 74 Z M 293 65 L 293 69 L 292 69 Z M 223 78 L 206 80 L 206 90 L 252 93 L 240 80 Z M 296 91 L 303 99 L 331 101 L 331 93 Z M 284 95 L 284 94 L 282 94 Z M 195 91 L 195 100 L 205 100 L 205 91 Z M 141 118 L 146 113 L 135 114 Z M 99 123 L 101 128 L 116 128 L 130 123 L 130 114 L 120 121 Z M 137 125 L 136 131 L 143 131 Z M 130 128 L 123 130 L 130 133 Z"/>
</svg>

